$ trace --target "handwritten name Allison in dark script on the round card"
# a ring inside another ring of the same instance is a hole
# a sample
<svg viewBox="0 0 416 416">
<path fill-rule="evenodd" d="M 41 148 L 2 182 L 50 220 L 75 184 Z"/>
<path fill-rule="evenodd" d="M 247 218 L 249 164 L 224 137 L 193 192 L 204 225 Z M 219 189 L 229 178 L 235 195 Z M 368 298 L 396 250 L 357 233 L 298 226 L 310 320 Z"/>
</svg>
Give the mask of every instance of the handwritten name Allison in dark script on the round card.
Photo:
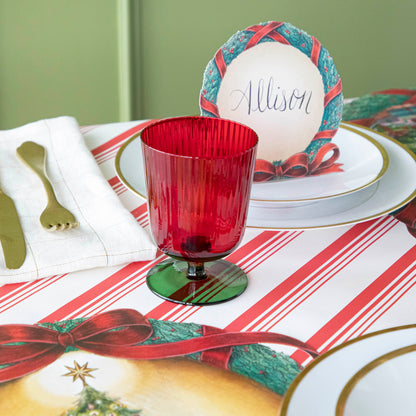
<svg viewBox="0 0 416 416">
<path fill-rule="evenodd" d="M 270 77 L 267 83 L 261 78 L 257 83 L 257 88 L 253 86 L 252 81 L 249 81 L 244 90 L 231 91 L 231 95 L 235 94 L 239 95 L 239 100 L 235 107 L 231 108 L 231 111 L 247 106 L 247 114 L 256 111 L 264 113 L 270 110 L 281 112 L 298 110 L 310 114 L 309 105 L 312 91 L 299 91 L 297 88 L 286 91 L 275 84 L 273 77 Z"/>
</svg>

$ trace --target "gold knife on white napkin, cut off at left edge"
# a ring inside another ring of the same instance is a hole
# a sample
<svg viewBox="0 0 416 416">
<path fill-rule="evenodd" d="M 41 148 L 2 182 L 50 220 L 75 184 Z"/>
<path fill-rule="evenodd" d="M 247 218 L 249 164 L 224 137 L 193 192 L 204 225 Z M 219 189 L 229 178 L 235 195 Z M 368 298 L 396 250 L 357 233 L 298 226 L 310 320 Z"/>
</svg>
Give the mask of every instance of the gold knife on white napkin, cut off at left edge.
<svg viewBox="0 0 416 416">
<path fill-rule="evenodd" d="M 13 200 L 0 189 L 0 242 L 8 269 L 18 269 L 26 258 L 26 243 Z"/>
</svg>

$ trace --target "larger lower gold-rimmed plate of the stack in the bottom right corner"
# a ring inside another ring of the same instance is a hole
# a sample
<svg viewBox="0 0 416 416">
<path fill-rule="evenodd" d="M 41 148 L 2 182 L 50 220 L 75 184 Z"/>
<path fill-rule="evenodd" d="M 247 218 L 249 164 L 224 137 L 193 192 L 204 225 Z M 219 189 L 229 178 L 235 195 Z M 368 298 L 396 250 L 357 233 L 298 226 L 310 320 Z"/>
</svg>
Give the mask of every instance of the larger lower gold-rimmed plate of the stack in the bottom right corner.
<svg viewBox="0 0 416 416">
<path fill-rule="evenodd" d="M 284 397 L 280 416 L 352 415 L 353 413 L 345 413 L 345 411 L 352 408 L 357 410 L 359 404 L 348 403 L 352 396 L 344 389 L 349 385 L 350 380 L 357 372 L 371 365 L 381 356 L 393 351 L 396 351 L 393 354 L 397 354 L 397 350 L 414 345 L 415 339 L 416 325 L 408 325 L 367 334 L 329 350 L 316 358 L 295 378 Z M 385 372 L 384 376 L 387 374 L 388 372 Z M 358 392 L 354 390 L 351 392 L 357 394 L 357 399 Z M 361 406 L 364 406 L 363 402 L 366 399 L 362 394 L 361 399 Z M 384 397 L 383 400 L 389 400 L 389 396 Z M 347 407 L 341 408 L 338 403 L 346 403 Z M 353 405 L 354 407 L 351 407 Z M 382 403 L 378 406 L 382 406 Z M 394 414 L 397 414 L 398 410 L 396 409 Z M 377 415 L 382 414 L 384 413 Z M 359 412 L 354 415 L 371 416 L 372 414 Z"/>
</svg>

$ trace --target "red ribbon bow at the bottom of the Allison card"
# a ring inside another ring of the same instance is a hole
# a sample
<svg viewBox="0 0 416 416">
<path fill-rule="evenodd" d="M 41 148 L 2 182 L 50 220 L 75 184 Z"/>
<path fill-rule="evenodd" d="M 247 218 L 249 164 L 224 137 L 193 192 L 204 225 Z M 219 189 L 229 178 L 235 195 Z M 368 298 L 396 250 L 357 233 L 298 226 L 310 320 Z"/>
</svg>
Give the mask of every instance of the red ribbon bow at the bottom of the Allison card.
<svg viewBox="0 0 416 416">
<path fill-rule="evenodd" d="M 332 155 L 324 160 L 329 152 L 332 152 Z M 300 178 L 323 173 L 342 172 L 341 164 L 335 163 L 338 158 L 338 146 L 334 143 L 325 143 L 319 148 L 311 161 L 309 161 L 308 154 L 304 152 L 292 155 L 279 166 L 263 159 L 257 159 L 254 167 L 254 182 L 266 182 L 283 176 Z"/>
</svg>

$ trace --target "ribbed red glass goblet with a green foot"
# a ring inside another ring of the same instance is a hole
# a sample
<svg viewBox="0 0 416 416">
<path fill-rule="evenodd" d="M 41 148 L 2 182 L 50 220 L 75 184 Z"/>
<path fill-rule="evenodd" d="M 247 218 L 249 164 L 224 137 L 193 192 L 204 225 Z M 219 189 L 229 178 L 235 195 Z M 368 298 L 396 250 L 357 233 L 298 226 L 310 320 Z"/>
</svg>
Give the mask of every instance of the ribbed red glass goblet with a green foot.
<svg viewBox="0 0 416 416">
<path fill-rule="evenodd" d="M 170 258 L 147 275 L 164 299 L 205 305 L 241 294 L 247 276 L 220 260 L 246 223 L 257 135 L 210 117 L 164 119 L 141 133 L 153 238 Z"/>
</svg>

